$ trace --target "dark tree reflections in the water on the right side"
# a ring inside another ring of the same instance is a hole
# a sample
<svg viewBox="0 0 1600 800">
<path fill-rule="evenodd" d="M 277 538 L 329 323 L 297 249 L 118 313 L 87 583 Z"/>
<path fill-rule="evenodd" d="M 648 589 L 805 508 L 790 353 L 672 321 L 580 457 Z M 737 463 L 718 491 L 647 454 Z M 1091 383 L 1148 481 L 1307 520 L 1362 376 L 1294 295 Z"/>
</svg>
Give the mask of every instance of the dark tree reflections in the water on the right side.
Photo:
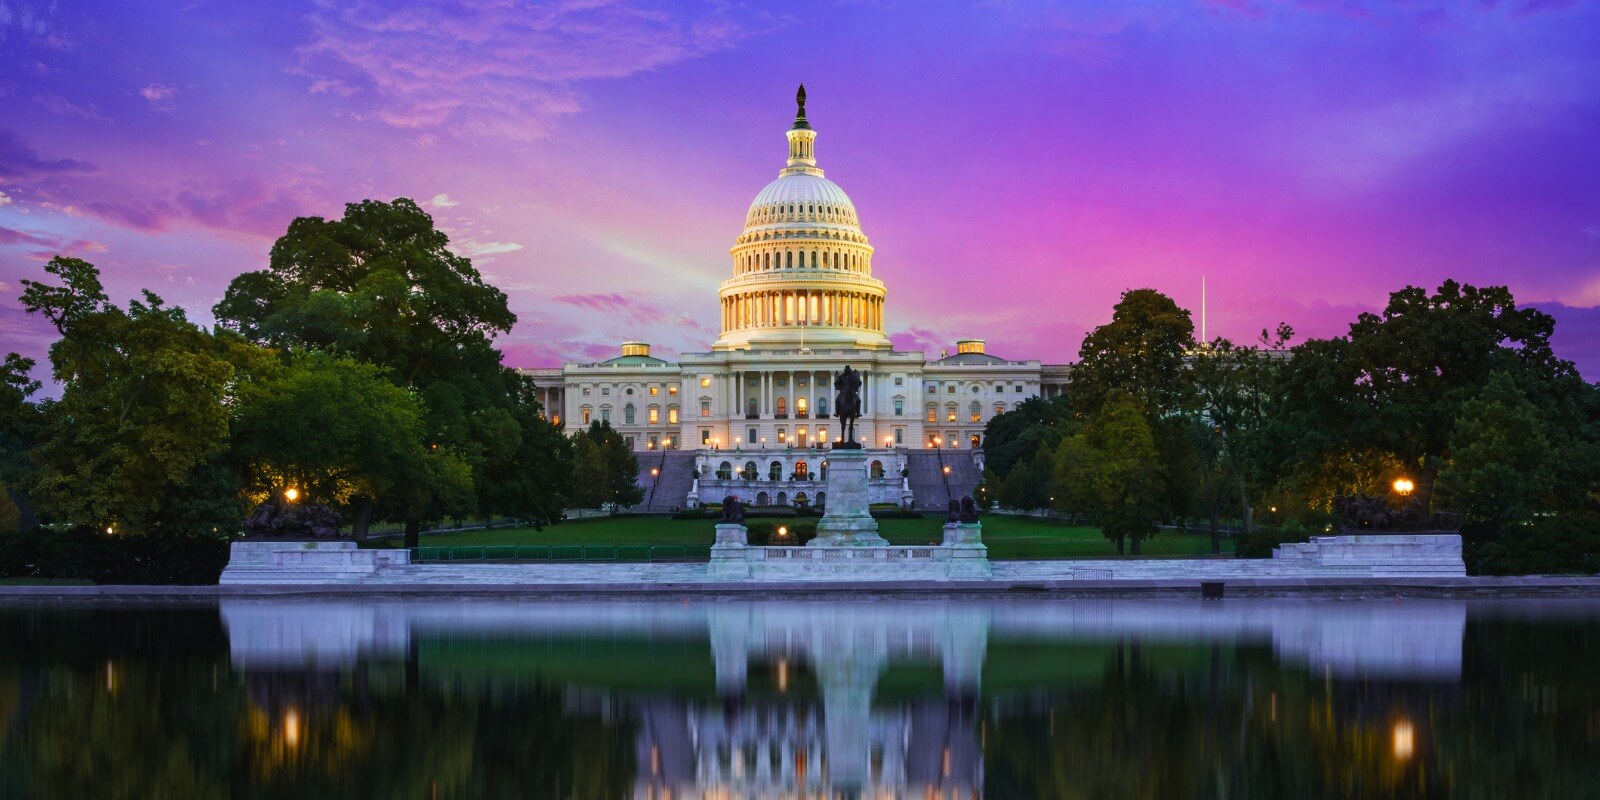
<svg viewBox="0 0 1600 800">
<path fill-rule="evenodd" d="M 1592 797 L 1600 627 L 1469 624 L 1459 685 L 1341 680 L 1267 651 L 1104 672 L 984 730 L 992 797 Z"/>
</svg>

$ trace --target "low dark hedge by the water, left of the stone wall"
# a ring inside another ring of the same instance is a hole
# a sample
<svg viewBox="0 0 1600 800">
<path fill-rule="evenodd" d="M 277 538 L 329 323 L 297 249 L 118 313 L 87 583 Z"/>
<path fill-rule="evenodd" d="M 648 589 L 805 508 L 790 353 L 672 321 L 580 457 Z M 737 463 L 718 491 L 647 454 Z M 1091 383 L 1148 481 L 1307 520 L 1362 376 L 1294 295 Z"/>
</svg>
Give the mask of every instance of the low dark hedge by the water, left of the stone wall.
<svg viewBox="0 0 1600 800">
<path fill-rule="evenodd" d="M 66 578 L 96 584 L 216 584 L 227 539 L 104 536 L 90 528 L 0 534 L 0 576 Z"/>
</svg>

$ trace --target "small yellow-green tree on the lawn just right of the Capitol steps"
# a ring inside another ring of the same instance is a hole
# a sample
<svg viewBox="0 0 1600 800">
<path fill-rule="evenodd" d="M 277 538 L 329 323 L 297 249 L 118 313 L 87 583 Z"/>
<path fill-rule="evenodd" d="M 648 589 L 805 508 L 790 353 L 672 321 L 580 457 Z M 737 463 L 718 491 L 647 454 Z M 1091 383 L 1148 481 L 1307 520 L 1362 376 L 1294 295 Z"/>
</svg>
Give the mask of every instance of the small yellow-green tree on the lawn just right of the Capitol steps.
<svg viewBox="0 0 1600 800">
<path fill-rule="evenodd" d="M 1118 554 L 1131 542 L 1139 555 L 1166 498 L 1155 437 L 1134 395 L 1114 389 L 1083 429 L 1061 443 L 1054 483 L 1056 509 L 1090 512 Z"/>
</svg>

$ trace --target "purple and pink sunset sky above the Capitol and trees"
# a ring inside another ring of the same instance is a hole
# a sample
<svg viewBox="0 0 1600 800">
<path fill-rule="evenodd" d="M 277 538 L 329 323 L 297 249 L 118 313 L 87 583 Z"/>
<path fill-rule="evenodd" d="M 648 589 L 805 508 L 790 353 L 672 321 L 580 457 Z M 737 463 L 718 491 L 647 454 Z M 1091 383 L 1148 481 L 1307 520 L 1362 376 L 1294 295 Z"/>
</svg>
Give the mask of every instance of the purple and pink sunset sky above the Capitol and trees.
<svg viewBox="0 0 1600 800">
<path fill-rule="evenodd" d="M 1328 336 L 1454 277 L 1600 378 L 1600 3 L 1107 6 L 0 0 L 0 349 L 51 254 L 210 322 L 291 218 L 405 195 L 510 363 L 701 350 L 805 82 L 904 347 L 1067 362 L 1202 274 L 1211 334 Z"/>
</svg>

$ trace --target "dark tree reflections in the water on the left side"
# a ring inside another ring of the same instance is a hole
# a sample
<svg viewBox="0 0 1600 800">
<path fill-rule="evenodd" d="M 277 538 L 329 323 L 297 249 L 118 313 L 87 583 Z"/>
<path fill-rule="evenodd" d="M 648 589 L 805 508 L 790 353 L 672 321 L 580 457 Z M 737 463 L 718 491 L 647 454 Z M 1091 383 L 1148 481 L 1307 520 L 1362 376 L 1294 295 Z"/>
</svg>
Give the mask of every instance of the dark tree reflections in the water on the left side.
<svg viewBox="0 0 1600 800">
<path fill-rule="evenodd" d="M 240 675 L 216 621 L 0 610 L 0 797 L 566 798 L 632 782 L 630 725 L 571 714 L 554 686 L 424 670 L 408 691 L 403 664 Z"/>
</svg>

